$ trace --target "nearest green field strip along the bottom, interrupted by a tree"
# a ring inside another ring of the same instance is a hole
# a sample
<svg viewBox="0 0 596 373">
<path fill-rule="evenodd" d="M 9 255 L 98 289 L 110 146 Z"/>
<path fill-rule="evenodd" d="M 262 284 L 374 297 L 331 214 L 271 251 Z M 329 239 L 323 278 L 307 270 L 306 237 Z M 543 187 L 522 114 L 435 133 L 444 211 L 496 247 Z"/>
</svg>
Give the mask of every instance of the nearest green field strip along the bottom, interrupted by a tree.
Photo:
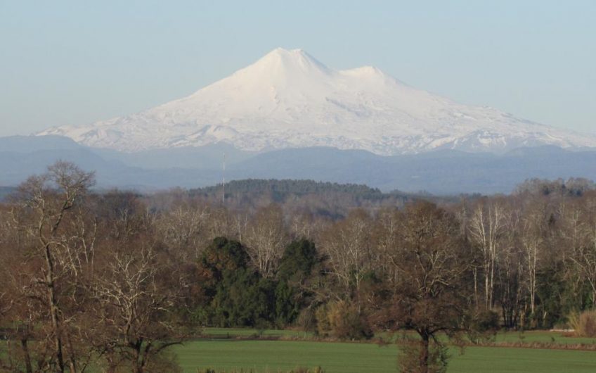
<svg viewBox="0 0 596 373">
<path fill-rule="evenodd" d="M 277 372 L 319 365 L 328 373 L 396 372 L 397 347 L 375 343 L 199 340 L 174 352 L 184 372 L 197 368 L 252 368 Z M 596 372 L 596 352 L 532 348 L 468 347 L 451 350 L 448 372 Z"/>
</svg>

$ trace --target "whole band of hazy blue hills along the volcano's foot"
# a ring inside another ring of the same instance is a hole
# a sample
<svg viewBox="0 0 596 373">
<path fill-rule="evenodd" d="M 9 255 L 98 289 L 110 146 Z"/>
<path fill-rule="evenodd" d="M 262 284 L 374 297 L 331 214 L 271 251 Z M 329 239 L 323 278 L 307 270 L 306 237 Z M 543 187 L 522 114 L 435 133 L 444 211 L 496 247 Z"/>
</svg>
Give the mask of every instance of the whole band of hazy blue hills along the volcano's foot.
<svg viewBox="0 0 596 373">
<path fill-rule="evenodd" d="M 330 147 L 249 153 L 235 152 L 223 144 L 121 153 L 82 146 L 62 137 L 4 137 L 0 138 L 0 185 L 18 185 L 61 159 L 96 171 L 98 188 L 197 189 L 221 182 L 224 152 L 226 180 L 301 179 L 365 184 L 380 191 L 458 195 L 509 193 L 532 178 L 596 179 L 596 151 L 568 151 L 557 146 L 516 148 L 500 155 L 441 150 L 378 156 Z M 301 187 L 306 191 L 313 188 Z M 283 196 L 285 187 L 276 184 L 275 188 L 274 192 Z M 292 193 L 299 191 L 292 189 Z M 375 193 L 365 194 L 376 198 Z"/>
</svg>

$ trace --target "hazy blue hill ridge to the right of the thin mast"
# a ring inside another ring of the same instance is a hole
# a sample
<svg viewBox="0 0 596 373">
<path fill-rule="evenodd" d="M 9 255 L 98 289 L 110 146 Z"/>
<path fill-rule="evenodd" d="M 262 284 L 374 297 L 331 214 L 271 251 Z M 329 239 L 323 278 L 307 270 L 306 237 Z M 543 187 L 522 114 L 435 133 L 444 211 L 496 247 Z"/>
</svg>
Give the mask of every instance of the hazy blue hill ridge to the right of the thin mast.
<svg viewBox="0 0 596 373">
<path fill-rule="evenodd" d="M 232 165 L 233 179 L 315 179 L 367 184 L 382 191 L 432 194 L 509 193 L 525 179 L 596 179 L 596 151 L 556 146 L 510 153 L 434 151 L 383 157 L 367 151 L 297 148 L 270 151 Z"/>
</svg>

